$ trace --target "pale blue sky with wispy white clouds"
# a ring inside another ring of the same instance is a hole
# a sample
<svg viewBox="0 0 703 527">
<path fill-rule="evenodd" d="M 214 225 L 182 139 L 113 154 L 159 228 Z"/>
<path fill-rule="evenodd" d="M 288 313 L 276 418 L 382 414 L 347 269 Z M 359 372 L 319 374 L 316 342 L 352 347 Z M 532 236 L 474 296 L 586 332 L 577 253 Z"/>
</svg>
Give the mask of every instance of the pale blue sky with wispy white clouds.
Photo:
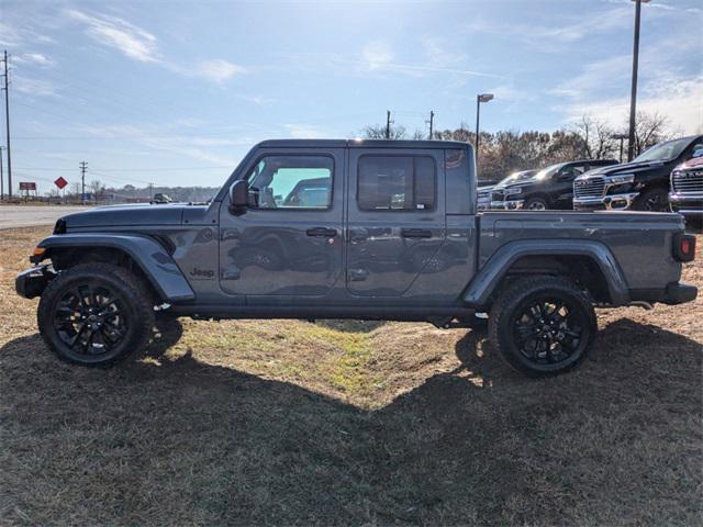
<svg viewBox="0 0 703 527">
<path fill-rule="evenodd" d="M 13 180 L 213 186 L 258 141 L 624 128 L 631 0 L 0 0 Z M 643 5 L 638 108 L 703 132 L 703 2 Z M 4 108 L 3 108 L 4 110 Z M 4 145 L 4 120 L 0 134 Z M 5 155 L 5 152 L 3 152 Z M 7 155 L 5 155 L 7 157 Z M 5 159 L 7 162 L 7 159 Z M 5 173 L 7 178 L 7 173 Z"/>
</svg>

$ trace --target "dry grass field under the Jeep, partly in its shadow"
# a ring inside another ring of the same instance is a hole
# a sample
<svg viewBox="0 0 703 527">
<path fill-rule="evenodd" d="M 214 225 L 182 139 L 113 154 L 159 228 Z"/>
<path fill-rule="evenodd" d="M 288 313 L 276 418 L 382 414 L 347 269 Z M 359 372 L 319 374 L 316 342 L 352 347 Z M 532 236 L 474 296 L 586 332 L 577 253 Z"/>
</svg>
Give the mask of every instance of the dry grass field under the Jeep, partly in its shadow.
<svg viewBox="0 0 703 527">
<path fill-rule="evenodd" d="M 701 300 L 543 381 L 401 323 L 181 319 L 91 370 L 14 294 L 45 234 L 0 234 L 1 525 L 701 525 Z"/>
</svg>

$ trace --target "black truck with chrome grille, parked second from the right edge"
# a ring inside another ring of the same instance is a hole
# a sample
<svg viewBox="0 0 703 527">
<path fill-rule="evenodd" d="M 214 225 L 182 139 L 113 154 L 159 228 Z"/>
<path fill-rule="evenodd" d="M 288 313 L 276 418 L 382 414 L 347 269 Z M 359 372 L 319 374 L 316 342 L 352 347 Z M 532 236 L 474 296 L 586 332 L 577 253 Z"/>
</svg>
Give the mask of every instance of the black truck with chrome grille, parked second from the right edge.
<svg viewBox="0 0 703 527">
<path fill-rule="evenodd" d="M 703 135 L 665 141 L 632 162 L 594 170 L 573 181 L 577 211 L 669 211 L 669 175 L 703 153 Z"/>
</svg>

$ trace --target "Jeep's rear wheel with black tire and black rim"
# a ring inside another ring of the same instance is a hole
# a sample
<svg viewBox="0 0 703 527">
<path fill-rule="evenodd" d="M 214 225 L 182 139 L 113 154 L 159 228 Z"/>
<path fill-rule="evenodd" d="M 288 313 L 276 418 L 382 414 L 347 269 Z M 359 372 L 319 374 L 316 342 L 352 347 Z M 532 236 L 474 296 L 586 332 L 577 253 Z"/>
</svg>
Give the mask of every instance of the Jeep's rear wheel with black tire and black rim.
<svg viewBox="0 0 703 527">
<path fill-rule="evenodd" d="M 553 311 L 550 311 L 553 310 Z M 591 300 L 561 277 L 525 277 L 509 285 L 489 316 L 489 339 L 509 366 L 529 377 L 577 367 L 593 345 Z"/>
</svg>

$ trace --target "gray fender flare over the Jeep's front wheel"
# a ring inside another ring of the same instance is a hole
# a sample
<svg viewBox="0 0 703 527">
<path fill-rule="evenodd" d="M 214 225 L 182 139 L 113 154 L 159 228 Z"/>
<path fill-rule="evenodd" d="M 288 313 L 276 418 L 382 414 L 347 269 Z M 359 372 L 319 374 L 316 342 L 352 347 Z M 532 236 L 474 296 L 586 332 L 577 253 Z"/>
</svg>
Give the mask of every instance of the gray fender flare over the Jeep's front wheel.
<svg viewBox="0 0 703 527">
<path fill-rule="evenodd" d="M 188 302 L 196 299 L 188 280 L 170 255 L 154 238 L 137 234 L 75 233 L 44 238 L 38 247 L 51 249 L 108 247 L 126 253 L 144 271 L 149 282 L 166 302 Z"/>
</svg>

